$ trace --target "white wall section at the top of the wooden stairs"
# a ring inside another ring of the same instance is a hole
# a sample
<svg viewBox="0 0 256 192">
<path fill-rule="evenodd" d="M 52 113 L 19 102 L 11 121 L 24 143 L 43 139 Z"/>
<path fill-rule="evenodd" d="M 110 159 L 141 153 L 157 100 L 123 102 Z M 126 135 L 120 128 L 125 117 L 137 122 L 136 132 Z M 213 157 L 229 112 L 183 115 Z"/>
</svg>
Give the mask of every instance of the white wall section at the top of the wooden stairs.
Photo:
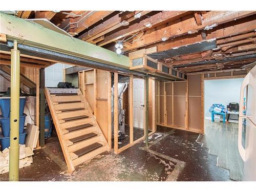
<svg viewBox="0 0 256 192">
<path fill-rule="evenodd" d="M 63 81 L 63 69 L 72 67 L 62 63 L 56 63 L 45 69 L 45 86 L 57 87 L 59 82 Z"/>
</svg>

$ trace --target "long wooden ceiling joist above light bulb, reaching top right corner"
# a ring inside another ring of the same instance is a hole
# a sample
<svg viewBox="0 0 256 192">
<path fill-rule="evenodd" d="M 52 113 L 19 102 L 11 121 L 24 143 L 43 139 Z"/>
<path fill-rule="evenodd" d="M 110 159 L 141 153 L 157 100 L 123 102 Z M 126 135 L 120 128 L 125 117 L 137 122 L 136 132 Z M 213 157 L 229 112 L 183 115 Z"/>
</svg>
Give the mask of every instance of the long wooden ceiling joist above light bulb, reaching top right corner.
<svg viewBox="0 0 256 192">
<path fill-rule="evenodd" d="M 161 41 L 162 38 L 168 39 L 185 34 L 193 34 L 202 29 L 210 30 L 217 27 L 218 25 L 250 16 L 255 13 L 256 11 L 210 11 L 203 15 L 202 25 L 200 26 L 197 25 L 194 17 L 189 17 L 185 20 L 180 20 L 180 22 L 177 22 L 173 25 L 145 33 L 145 35 L 140 40 L 134 41 L 132 47 L 125 49 L 125 51 L 154 44 Z"/>
</svg>

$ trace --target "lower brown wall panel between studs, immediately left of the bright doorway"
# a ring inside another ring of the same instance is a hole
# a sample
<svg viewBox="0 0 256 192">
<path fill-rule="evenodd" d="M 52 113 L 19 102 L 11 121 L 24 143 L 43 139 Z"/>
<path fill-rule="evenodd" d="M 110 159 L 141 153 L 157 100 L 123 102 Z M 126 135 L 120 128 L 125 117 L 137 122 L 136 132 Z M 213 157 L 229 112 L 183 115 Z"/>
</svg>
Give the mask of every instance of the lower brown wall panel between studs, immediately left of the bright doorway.
<svg viewBox="0 0 256 192">
<path fill-rule="evenodd" d="M 201 97 L 188 97 L 188 128 L 202 129 Z"/>
</svg>

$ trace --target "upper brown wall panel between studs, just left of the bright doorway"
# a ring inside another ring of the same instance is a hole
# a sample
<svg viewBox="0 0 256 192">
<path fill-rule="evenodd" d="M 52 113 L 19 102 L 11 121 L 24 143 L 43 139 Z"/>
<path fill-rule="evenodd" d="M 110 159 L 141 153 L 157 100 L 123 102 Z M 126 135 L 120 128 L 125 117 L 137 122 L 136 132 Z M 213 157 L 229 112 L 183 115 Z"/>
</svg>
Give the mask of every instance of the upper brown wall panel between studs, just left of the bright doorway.
<svg viewBox="0 0 256 192">
<path fill-rule="evenodd" d="M 188 96 L 201 96 L 201 75 L 188 75 Z"/>
</svg>

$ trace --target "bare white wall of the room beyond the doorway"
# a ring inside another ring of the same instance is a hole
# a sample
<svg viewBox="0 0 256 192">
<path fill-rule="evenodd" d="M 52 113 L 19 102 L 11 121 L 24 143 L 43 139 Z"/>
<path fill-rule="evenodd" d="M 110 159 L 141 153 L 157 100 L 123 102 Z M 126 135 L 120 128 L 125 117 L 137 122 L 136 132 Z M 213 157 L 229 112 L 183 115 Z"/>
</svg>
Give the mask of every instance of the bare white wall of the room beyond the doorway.
<svg viewBox="0 0 256 192">
<path fill-rule="evenodd" d="M 239 103 L 240 89 L 243 78 L 218 79 L 204 81 L 204 116 L 211 117 L 209 108 L 214 103 L 224 104 L 226 107 L 230 102 Z M 231 118 L 231 116 L 230 116 Z"/>
</svg>

